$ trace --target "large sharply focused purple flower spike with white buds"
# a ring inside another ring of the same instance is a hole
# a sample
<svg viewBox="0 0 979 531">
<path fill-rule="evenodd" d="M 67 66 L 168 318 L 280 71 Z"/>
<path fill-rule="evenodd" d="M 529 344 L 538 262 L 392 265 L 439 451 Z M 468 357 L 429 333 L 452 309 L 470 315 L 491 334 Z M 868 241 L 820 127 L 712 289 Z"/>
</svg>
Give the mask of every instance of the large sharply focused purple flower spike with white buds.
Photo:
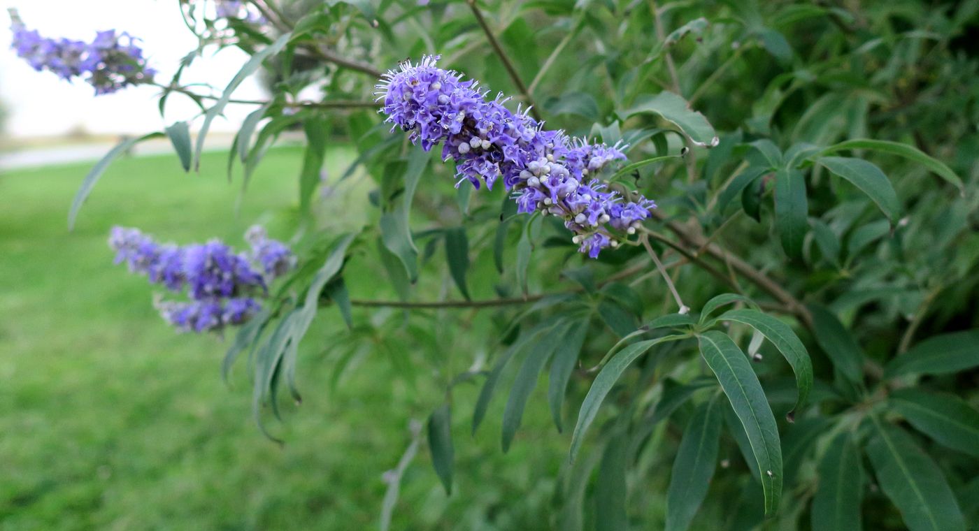
<svg viewBox="0 0 979 531">
<path fill-rule="evenodd" d="M 489 100 L 474 80 L 436 66 L 439 56 L 404 63 L 386 73 L 375 94 L 382 112 L 421 143 L 425 151 L 443 143 L 443 160 L 456 161 L 458 186 L 468 180 L 488 188 L 502 177 L 521 212 L 564 219 L 572 241 L 592 258 L 634 234 L 650 199 L 629 201 L 594 178 L 616 159 L 620 146 L 590 144 L 547 130 L 527 111 L 509 111 L 501 95 Z M 394 130 L 394 129 L 392 129 Z"/>
</svg>

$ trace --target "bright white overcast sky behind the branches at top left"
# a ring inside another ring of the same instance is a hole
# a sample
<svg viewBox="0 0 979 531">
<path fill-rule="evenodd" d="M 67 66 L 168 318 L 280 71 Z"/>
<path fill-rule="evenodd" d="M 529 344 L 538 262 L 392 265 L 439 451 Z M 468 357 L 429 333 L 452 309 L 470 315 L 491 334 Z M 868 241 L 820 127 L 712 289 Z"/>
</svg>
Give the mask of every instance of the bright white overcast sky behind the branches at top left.
<svg viewBox="0 0 979 531">
<path fill-rule="evenodd" d="M 17 8 L 28 28 L 45 37 L 91 40 L 97 30 L 118 29 L 143 39 L 142 45 L 157 79 L 169 82 L 180 58 L 196 46 L 196 38 L 180 18 L 178 0 L 0 0 L 0 100 L 11 112 L 7 133 L 17 137 L 59 135 L 82 127 L 93 133 L 139 134 L 194 116 L 197 107 L 172 95 L 163 120 L 152 87 L 128 88 L 94 96 L 84 81 L 70 83 L 51 72 L 27 66 L 11 49 L 8 8 Z M 248 58 L 235 49 L 206 55 L 186 69 L 182 83 L 206 82 L 223 87 Z M 262 99 L 256 79 L 235 92 L 236 98 Z M 214 120 L 211 130 L 237 130 L 250 106 L 229 106 L 226 120 Z"/>
</svg>

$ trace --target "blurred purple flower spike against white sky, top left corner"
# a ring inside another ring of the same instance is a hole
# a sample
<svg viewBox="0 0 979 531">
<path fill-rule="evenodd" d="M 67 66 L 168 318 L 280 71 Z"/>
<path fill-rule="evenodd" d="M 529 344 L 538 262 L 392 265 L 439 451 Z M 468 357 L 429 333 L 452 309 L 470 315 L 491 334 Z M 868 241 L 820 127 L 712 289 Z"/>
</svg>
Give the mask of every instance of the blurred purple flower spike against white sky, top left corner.
<svg viewBox="0 0 979 531">
<path fill-rule="evenodd" d="M 35 70 L 48 69 L 65 79 L 87 75 L 85 81 L 95 94 L 109 94 L 128 85 L 153 80 L 156 71 L 146 66 L 136 39 L 115 29 L 99 31 L 91 43 L 49 39 L 28 30 L 16 12 L 11 12 L 13 48 Z"/>
</svg>

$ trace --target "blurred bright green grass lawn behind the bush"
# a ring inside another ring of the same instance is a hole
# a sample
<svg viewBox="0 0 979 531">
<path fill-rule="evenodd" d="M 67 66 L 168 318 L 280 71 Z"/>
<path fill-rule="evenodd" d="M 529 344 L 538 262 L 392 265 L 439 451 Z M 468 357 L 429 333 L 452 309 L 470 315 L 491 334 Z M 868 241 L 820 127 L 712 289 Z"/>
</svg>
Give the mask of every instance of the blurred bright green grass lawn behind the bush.
<svg viewBox="0 0 979 531">
<path fill-rule="evenodd" d="M 330 152 L 329 171 L 350 156 Z M 377 527 L 382 474 L 408 445 L 409 420 L 425 420 L 440 388 L 405 385 L 368 353 L 332 391 L 325 345 L 343 337 L 325 336 L 339 329 L 323 322 L 339 319 L 320 312 L 303 342 L 303 406 L 286 407 L 284 423 L 268 420 L 287 441 L 279 447 L 251 419 L 245 365 L 230 387 L 221 380 L 226 342 L 172 332 L 146 280 L 112 263 L 106 239 L 115 224 L 178 243 L 244 245 L 255 222 L 288 238 L 302 152 L 270 152 L 237 212 L 240 182 L 227 182 L 225 160 L 205 155 L 190 175 L 172 155 L 117 160 L 73 233 L 68 207 L 90 164 L 0 176 L 0 529 Z M 349 196 L 332 199 L 332 213 L 355 222 L 366 190 Z M 532 427 L 502 455 L 499 400 L 471 438 L 477 390 L 458 396 L 452 496 L 423 445 L 402 482 L 394 529 L 546 526 L 551 484 L 540 478 L 564 463 L 567 441 L 533 429 L 546 426 L 546 408 L 529 408 Z"/>
</svg>

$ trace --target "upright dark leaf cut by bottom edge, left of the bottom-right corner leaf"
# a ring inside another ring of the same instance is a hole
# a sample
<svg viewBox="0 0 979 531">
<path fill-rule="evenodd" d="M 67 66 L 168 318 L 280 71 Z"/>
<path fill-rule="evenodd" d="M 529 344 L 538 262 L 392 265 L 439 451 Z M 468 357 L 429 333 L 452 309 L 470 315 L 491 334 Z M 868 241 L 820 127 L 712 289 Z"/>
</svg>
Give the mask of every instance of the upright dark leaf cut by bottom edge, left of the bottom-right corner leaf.
<svg viewBox="0 0 979 531">
<path fill-rule="evenodd" d="M 841 433 L 833 439 L 817 471 L 813 531 L 860 531 L 863 467 L 850 433 Z"/>
</svg>

